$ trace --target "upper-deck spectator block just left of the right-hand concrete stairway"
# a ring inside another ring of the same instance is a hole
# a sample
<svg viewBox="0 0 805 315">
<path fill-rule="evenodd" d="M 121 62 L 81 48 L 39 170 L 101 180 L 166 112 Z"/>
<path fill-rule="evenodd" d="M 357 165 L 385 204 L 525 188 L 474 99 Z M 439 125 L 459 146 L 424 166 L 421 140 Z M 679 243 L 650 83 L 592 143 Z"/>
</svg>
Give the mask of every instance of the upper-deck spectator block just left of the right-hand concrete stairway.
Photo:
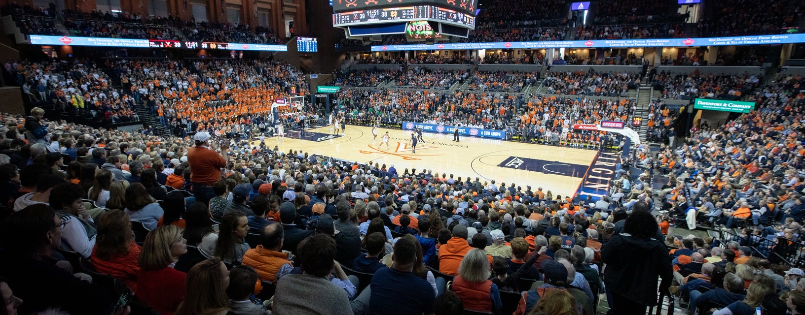
<svg viewBox="0 0 805 315">
<path fill-rule="evenodd" d="M 551 94 L 588 96 L 627 96 L 630 87 L 640 84 L 638 74 L 626 72 L 549 72 L 543 85 Z"/>
</svg>

